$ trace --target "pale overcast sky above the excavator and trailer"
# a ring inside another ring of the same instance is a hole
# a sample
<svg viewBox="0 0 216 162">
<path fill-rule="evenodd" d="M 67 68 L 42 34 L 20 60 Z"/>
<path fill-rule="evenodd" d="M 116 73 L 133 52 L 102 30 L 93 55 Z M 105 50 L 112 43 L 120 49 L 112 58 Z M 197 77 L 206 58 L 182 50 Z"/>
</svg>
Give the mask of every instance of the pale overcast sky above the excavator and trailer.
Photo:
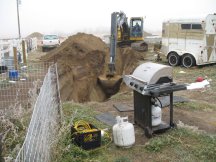
<svg viewBox="0 0 216 162">
<path fill-rule="evenodd" d="M 198 18 L 216 13 L 216 0 L 21 0 L 23 37 L 32 32 L 74 34 L 109 32 L 111 13 L 146 17 L 144 30 L 161 31 L 169 18 Z M 0 38 L 18 37 L 16 0 L 0 0 Z"/>
</svg>

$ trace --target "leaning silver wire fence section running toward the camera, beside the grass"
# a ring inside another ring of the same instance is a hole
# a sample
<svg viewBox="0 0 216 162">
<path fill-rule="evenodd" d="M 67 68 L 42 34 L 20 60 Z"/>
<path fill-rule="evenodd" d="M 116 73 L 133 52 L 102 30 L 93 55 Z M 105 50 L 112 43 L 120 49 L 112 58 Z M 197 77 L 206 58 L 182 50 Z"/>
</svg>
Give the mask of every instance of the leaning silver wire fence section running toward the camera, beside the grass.
<svg viewBox="0 0 216 162">
<path fill-rule="evenodd" d="M 51 144 L 60 123 L 56 73 L 56 66 L 51 66 L 35 103 L 24 144 L 15 162 L 50 161 Z"/>
</svg>

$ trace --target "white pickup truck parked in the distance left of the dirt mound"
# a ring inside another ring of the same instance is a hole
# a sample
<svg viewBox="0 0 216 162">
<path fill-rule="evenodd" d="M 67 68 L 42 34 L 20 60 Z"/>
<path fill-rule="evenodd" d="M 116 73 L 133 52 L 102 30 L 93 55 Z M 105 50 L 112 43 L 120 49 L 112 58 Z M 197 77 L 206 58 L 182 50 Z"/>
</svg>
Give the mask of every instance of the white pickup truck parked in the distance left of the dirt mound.
<svg viewBox="0 0 216 162">
<path fill-rule="evenodd" d="M 57 35 L 44 35 L 42 40 L 42 51 L 45 52 L 48 49 L 58 47 L 60 45 L 60 39 Z"/>
</svg>

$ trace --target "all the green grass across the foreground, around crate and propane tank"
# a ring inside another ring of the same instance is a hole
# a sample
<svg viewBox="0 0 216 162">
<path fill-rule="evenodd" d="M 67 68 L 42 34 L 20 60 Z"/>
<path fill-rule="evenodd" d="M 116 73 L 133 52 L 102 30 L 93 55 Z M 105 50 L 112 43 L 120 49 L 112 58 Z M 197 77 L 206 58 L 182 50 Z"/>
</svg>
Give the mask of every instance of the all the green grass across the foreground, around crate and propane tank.
<svg viewBox="0 0 216 162">
<path fill-rule="evenodd" d="M 94 151 L 83 150 L 71 142 L 70 121 L 73 115 L 74 121 L 82 119 L 98 128 L 107 128 L 94 118 L 97 113 L 92 106 L 63 104 L 65 124 L 60 130 L 53 161 L 133 162 L 135 157 L 137 161 L 216 161 L 216 136 L 188 128 L 172 129 L 146 140 L 145 145 L 134 145 L 129 149 L 116 147 L 112 142 Z M 109 134 L 111 136 L 111 131 Z M 108 140 L 103 140 L 103 145 L 107 143 Z"/>
</svg>

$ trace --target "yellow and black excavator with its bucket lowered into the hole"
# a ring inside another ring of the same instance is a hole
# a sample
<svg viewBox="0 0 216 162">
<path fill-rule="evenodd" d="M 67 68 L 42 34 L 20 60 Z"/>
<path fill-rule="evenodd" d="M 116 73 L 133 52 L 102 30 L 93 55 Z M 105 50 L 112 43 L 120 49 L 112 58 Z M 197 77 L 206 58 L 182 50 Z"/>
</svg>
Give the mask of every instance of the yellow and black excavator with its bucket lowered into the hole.
<svg viewBox="0 0 216 162">
<path fill-rule="evenodd" d="M 108 96 L 115 94 L 120 87 L 122 77 L 116 75 L 115 57 L 118 46 L 131 45 L 138 50 L 146 51 L 148 45 L 143 41 L 143 18 L 133 17 L 130 26 L 124 12 L 111 14 L 110 61 L 106 76 L 99 76 L 98 80 Z"/>
</svg>

